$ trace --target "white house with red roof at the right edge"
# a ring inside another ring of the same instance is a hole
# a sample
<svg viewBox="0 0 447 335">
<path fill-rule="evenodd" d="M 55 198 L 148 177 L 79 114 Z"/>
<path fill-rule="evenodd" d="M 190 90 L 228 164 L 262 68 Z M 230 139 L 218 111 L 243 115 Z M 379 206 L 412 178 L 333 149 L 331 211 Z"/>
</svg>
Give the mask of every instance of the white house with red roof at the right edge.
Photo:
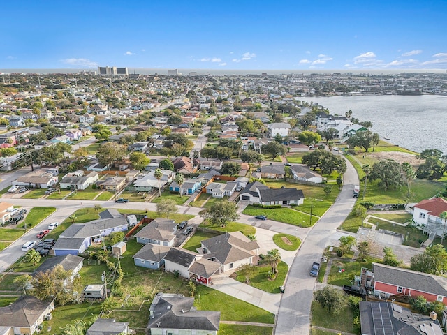
<svg viewBox="0 0 447 335">
<path fill-rule="evenodd" d="M 447 231 L 445 218 L 441 213 L 447 211 L 447 201 L 443 198 L 424 199 L 414 205 L 413 221 L 423 226 L 430 237 L 441 237 Z"/>
</svg>

